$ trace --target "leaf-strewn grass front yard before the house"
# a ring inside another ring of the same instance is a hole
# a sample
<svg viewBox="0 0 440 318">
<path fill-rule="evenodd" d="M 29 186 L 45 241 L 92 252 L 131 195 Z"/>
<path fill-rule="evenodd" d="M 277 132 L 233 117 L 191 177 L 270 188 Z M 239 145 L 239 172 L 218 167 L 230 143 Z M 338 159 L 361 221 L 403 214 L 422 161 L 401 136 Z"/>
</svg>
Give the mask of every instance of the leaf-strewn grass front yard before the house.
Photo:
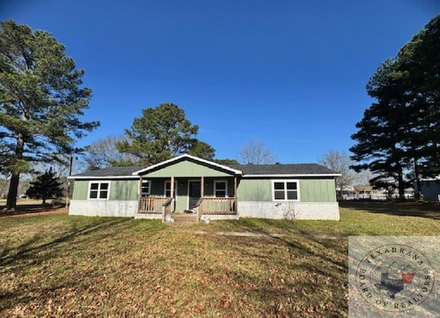
<svg viewBox="0 0 440 318">
<path fill-rule="evenodd" d="M 347 317 L 347 236 L 439 235 L 439 217 L 389 203 L 342 203 L 339 222 L 1 216 L 0 316 Z"/>
</svg>

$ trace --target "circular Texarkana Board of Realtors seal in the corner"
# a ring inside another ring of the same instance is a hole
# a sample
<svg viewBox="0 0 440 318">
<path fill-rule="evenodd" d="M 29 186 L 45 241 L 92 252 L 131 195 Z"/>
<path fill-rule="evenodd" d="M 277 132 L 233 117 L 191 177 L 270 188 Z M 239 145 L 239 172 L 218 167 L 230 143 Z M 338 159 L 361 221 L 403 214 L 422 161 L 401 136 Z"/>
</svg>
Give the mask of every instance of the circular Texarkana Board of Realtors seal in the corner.
<svg viewBox="0 0 440 318">
<path fill-rule="evenodd" d="M 414 247 L 382 245 L 359 262 L 355 284 L 370 306 L 401 312 L 428 298 L 434 287 L 434 269 L 426 255 Z"/>
</svg>

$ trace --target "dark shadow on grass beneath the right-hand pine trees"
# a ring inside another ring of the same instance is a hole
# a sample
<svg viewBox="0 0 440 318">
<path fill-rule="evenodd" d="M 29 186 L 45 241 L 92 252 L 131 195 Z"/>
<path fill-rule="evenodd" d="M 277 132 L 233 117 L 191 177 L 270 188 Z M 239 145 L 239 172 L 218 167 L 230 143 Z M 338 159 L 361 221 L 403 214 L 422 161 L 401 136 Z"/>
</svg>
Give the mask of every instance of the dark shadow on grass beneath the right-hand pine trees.
<svg viewBox="0 0 440 318">
<path fill-rule="evenodd" d="M 340 201 L 342 208 L 381 213 L 394 216 L 418 216 L 440 220 L 440 204 L 432 202 L 375 202 L 375 201 Z"/>
</svg>

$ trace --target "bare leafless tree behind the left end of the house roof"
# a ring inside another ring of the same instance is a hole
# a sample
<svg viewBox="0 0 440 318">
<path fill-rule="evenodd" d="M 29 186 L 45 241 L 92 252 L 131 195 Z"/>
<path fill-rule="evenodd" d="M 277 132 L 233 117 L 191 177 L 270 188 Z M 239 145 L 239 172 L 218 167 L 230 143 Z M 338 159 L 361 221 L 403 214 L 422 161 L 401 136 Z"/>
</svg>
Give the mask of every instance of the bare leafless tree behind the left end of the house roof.
<svg viewBox="0 0 440 318">
<path fill-rule="evenodd" d="M 127 166 L 139 161 L 138 157 L 119 152 L 116 143 L 128 141 L 125 136 L 111 135 L 98 139 L 89 147 L 85 155 L 87 170 L 102 169 L 109 166 Z"/>
</svg>

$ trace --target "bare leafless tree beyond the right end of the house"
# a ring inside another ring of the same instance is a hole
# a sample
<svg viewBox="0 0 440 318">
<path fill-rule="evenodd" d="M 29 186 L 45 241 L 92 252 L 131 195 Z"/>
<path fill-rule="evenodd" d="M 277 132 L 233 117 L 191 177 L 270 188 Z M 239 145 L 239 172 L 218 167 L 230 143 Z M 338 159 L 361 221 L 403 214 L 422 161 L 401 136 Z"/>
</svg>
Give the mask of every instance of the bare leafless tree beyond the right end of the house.
<svg viewBox="0 0 440 318">
<path fill-rule="evenodd" d="M 341 174 L 336 179 L 336 188 L 340 188 L 341 191 L 344 186 L 353 185 L 358 179 L 358 174 L 350 168 L 353 165 L 353 161 L 344 152 L 330 149 L 324 156 L 318 159 L 318 163 Z"/>
</svg>

